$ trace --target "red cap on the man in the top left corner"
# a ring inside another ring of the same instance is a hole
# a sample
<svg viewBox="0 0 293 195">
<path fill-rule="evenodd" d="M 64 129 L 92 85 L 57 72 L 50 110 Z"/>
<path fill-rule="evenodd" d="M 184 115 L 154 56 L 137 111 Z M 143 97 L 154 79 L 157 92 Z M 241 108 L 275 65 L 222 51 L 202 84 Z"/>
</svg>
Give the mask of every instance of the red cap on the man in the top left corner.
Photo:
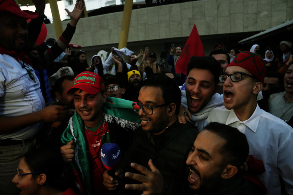
<svg viewBox="0 0 293 195">
<path fill-rule="evenodd" d="M 31 12 L 29 10 L 22 11 L 13 0 L 0 0 L 0 13 L 1 12 L 10 12 L 16 16 L 27 19 L 34 19 L 38 17 L 38 13 L 36 12 Z"/>
</svg>

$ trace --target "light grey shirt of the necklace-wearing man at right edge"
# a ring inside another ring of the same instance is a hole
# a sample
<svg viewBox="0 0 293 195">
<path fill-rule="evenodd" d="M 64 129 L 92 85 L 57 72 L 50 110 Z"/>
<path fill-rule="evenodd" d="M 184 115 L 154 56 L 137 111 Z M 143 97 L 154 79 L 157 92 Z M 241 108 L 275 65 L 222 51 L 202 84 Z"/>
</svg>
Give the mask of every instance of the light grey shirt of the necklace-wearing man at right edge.
<svg viewBox="0 0 293 195">
<path fill-rule="evenodd" d="M 286 91 L 271 94 L 268 107 L 269 113 L 288 123 L 293 115 L 293 102 L 284 99 L 285 93 Z"/>
</svg>

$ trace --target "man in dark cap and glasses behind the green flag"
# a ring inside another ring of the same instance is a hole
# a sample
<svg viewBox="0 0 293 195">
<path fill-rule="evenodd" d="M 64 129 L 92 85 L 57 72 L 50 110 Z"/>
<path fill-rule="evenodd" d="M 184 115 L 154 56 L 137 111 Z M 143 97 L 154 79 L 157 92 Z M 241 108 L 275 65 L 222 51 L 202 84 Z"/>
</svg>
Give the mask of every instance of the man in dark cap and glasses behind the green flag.
<svg viewBox="0 0 293 195">
<path fill-rule="evenodd" d="M 117 76 L 107 76 L 105 85 L 105 91 L 108 97 L 122 98 L 122 95 L 125 93 L 123 81 Z"/>
</svg>

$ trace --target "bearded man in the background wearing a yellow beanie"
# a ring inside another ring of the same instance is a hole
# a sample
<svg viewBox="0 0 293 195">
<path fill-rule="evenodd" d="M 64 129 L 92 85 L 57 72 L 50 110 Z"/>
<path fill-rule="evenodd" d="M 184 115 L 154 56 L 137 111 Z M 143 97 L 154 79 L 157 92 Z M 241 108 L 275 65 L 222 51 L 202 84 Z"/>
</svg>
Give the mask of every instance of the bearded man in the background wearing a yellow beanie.
<svg viewBox="0 0 293 195">
<path fill-rule="evenodd" d="M 128 77 L 128 87 L 126 87 L 126 92 L 123 98 L 130 101 L 138 101 L 139 90 L 141 88 L 142 78 L 139 71 L 132 70 L 127 73 Z"/>
</svg>

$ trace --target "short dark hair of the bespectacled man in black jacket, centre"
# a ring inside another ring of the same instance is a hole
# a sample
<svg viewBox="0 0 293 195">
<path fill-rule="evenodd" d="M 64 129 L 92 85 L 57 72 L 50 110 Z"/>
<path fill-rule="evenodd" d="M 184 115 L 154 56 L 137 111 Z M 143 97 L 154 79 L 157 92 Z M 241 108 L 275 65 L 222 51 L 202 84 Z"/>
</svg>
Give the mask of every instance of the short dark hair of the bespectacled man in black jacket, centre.
<svg viewBox="0 0 293 195">
<path fill-rule="evenodd" d="M 143 82 L 143 86 L 160 87 L 162 90 L 162 98 L 164 99 L 165 103 L 175 103 L 175 114 L 177 115 L 179 113 L 181 105 L 181 91 L 174 80 L 164 74 L 160 74 L 147 78 Z"/>
</svg>

